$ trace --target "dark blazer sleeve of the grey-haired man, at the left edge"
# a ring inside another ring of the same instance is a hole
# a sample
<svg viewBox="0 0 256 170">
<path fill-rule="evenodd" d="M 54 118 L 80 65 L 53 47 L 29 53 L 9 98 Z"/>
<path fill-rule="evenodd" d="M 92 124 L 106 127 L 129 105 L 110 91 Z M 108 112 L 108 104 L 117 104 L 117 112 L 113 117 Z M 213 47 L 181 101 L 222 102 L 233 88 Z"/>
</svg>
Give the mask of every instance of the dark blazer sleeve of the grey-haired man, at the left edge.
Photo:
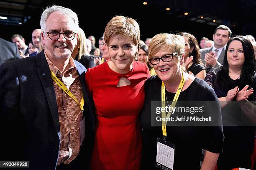
<svg viewBox="0 0 256 170">
<path fill-rule="evenodd" d="M 20 88 L 19 79 L 13 65 L 3 63 L 0 66 L 0 129 L 1 140 L 0 160 L 15 161 L 21 154 L 23 145 L 22 132 L 20 132 Z M 33 90 L 33 89 L 31 89 Z"/>
</svg>

